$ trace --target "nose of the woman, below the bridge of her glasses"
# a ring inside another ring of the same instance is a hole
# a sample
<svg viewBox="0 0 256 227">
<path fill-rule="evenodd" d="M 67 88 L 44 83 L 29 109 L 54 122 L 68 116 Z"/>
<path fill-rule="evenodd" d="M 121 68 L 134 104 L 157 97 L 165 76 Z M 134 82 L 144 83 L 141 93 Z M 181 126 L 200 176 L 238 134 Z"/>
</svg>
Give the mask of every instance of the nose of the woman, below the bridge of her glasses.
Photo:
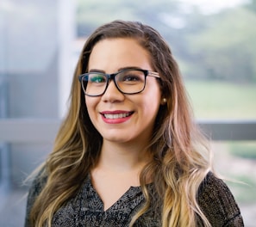
<svg viewBox="0 0 256 227">
<path fill-rule="evenodd" d="M 115 102 L 123 101 L 124 95 L 122 92 L 116 88 L 116 84 L 113 80 L 109 81 L 108 88 L 102 96 L 103 101 Z"/>
</svg>

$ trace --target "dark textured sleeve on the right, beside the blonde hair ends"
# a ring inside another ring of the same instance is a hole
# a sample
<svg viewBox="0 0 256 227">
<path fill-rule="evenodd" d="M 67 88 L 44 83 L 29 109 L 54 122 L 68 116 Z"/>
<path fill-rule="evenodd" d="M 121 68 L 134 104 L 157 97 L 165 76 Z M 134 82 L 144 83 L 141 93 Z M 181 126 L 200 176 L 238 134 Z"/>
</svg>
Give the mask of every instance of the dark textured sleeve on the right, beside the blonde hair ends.
<svg viewBox="0 0 256 227">
<path fill-rule="evenodd" d="M 211 172 L 198 190 L 198 204 L 213 227 L 244 226 L 233 194 L 224 181 Z"/>
</svg>

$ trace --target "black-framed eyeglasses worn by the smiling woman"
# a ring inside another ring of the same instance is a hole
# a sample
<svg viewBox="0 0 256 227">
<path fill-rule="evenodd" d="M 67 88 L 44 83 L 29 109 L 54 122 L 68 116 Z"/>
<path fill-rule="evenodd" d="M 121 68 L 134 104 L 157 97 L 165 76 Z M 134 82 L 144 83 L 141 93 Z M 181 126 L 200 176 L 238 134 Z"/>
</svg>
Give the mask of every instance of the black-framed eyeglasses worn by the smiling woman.
<svg viewBox="0 0 256 227">
<path fill-rule="evenodd" d="M 78 77 L 84 94 L 92 97 L 103 95 L 109 86 L 109 81 L 113 80 L 116 88 L 122 94 L 138 94 L 145 89 L 147 77 L 159 77 L 155 71 L 140 69 L 126 69 L 112 74 L 103 72 L 87 72 Z"/>
</svg>

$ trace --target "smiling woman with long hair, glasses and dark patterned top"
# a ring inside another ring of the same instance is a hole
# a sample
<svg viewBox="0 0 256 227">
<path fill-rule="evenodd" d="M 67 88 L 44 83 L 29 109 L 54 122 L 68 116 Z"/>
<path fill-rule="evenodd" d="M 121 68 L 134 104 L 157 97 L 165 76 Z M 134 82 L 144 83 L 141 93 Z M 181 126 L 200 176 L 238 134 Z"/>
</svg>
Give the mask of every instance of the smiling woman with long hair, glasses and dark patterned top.
<svg viewBox="0 0 256 227">
<path fill-rule="evenodd" d="M 91 34 L 69 112 L 28 194 L 26 226 L 243 226 L 153 28 Z"/>
</svg>

